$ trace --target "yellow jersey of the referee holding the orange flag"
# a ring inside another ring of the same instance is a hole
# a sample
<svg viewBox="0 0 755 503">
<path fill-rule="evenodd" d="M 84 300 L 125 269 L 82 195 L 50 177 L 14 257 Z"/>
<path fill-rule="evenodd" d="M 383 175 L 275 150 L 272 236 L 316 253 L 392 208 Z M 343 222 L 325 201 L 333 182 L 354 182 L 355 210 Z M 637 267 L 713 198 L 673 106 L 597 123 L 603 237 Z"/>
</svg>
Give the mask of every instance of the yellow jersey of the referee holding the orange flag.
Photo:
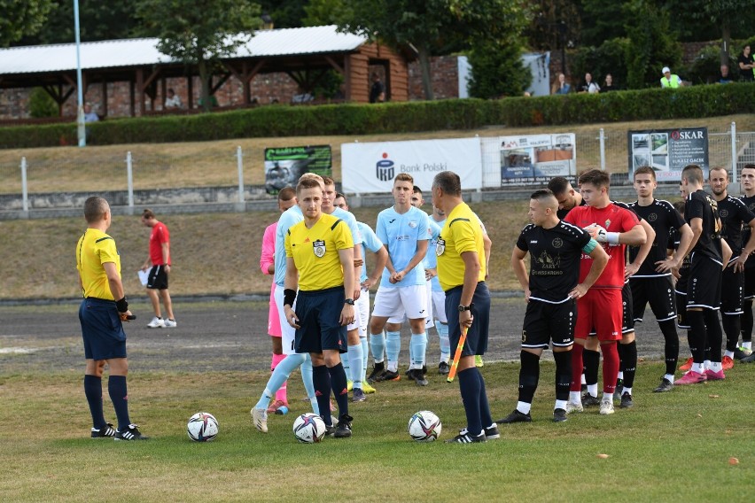
<svg viewBox="0 0 755 503">
<path fill-rule="evenodd" d="M 464 251 L 477 251 L 479 258 L 479 279 L 485 281 L 485 247 L 482 241 L 482 227 L 477 215 L 469 205 L 457 205 L 448 215 L 440 230 L 435 253 L 438 255 L 438 281 L 440 288 L 450 290 L 464 284 Z"/>
</svg>

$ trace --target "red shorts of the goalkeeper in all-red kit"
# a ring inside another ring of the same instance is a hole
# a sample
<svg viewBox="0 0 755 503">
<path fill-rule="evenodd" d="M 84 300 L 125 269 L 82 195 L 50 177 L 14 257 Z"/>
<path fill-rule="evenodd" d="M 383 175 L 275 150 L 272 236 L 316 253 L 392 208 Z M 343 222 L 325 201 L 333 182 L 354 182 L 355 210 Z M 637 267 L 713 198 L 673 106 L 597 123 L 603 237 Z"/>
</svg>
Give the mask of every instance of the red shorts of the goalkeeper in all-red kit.
<svg viewBox="0 0 755 503">
<path fill-rule="evenodd" d="M 621 340 L 621 316 L 624 306 L 621 289 L 591 288 L 577 300 L 577 325 L 574 338 L 586 339 L 595 329 L 599 341 Z"/>
</svg>

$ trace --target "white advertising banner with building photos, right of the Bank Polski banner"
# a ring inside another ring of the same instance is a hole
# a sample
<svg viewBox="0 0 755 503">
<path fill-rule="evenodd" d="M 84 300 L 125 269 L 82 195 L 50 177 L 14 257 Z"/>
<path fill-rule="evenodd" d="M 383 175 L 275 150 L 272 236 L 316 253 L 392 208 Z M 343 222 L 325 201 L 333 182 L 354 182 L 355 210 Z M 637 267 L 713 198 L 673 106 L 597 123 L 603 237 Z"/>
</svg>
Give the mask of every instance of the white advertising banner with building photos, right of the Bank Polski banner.
<svg viewBox="0 0 755 503">
<path fill-rule="evenodd" d="M 538 182 L 577 169 L 573 133 L 501 136 L 501 183 Z"/>
</svg>

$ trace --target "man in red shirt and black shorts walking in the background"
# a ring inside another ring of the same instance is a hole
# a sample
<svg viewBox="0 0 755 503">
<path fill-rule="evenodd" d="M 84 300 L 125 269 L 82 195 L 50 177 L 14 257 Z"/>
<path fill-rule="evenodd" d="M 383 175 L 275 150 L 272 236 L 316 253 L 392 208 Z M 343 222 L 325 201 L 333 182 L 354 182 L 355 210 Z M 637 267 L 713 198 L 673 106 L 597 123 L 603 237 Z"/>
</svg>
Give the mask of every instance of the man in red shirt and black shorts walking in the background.
<svg viewBox="0 0 755 503">
<path fill-rule="evenodd" d="M 152 301 L 152 309 L 155 317 L 147 323 L 150 329 L 173 329 L 175 328 L 175 318 L 173 317 L 173 303 L 170 300 L 170 293 L 167 290 L 167 275 L 170 274 L 170 233 L 167 226 L 155 218 L 152 210 L 146 209 L 142 213 L 142 224 L 145 227 L 152 228 L 150 235 L 150 255 L 144 261 L 142 270 L 150 269 L 147 277 L 147 294 Z M 152 268 L 150 268 L 152 266 Z M 160 292 L 158 294 L 158 292 Z M 165 306 L 167 318 L 163 320 L 160 313 L 160 298 Z"/>
</svg>

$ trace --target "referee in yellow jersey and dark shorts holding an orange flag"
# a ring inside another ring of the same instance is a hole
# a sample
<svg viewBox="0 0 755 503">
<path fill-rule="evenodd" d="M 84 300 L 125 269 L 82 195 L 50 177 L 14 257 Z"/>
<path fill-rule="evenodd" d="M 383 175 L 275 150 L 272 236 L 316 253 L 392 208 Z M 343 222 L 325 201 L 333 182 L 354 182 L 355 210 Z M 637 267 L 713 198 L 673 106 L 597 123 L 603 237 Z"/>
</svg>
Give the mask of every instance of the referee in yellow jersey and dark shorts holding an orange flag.
<svg viewBox="0 0 755 503">
<path fill-rule="evenodd" d="M 475 355 L 487 349 L 490 321 L 490 292 L 485 283 L 485 248 L 477 216 L 463 202 L 459 175 L 443 171 L 432 181 L 432 205 L 448 215 L 440 230 L 435 253 L 438 279 L 446 292 L 448 338 L 452 348 L 467 330 L 458 363 L 459 391 L 462 394 L 467 427 L 450 443 L 471 444 L 498 438 L 498 428 L 490 415 L 485 381 L 475 367 Z"/>
</svg>

